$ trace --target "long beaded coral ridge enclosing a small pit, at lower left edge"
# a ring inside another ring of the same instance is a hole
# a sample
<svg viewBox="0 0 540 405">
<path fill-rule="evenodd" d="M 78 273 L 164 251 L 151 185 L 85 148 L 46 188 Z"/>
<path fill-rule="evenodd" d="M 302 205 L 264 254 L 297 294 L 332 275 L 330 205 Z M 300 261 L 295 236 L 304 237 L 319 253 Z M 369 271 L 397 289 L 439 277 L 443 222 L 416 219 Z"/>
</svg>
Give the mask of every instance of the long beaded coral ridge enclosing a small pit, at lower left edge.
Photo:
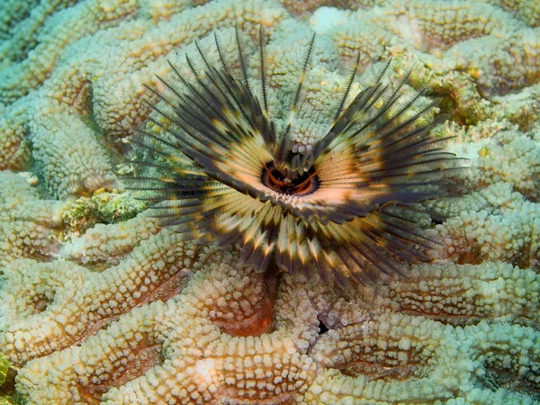
<svg viewBox="0 0 540 405">
<path fill-rule="evenodd" d="M 197 250 L 162 232 L 103 273 L 64 260 L 20 259 L 4 269 L 0 346 L 24 365 L 76 345 L 132 308 L 181 291 Z"/>
</svg>

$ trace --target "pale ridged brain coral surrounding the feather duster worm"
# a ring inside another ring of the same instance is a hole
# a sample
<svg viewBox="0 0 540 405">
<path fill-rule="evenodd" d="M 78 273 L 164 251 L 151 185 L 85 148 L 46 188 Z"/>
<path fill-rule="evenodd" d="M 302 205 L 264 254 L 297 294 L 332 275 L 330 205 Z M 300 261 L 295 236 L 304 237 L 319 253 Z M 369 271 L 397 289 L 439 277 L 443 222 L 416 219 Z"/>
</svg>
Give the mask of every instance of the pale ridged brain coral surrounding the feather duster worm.
<svg viewBox="0 0 540 405">
<path fill-rule="evenodd" d="M 539 403 L 539 15 L 534 0 L 1 2 L 0 395 Z M 376 288 L 257 274 L 234 248 L 160 229 L 123 189 L 140 153 L 125 140 L 151 116 L 143 84 L 235 27 L 259 83 L 261 24 L 275 111 L 317 32 L 301 151 L 359 51 L 356 92 L 392 58 L 393 79 L 412 69 L 438 99 L 449 118 L 434 136 L 469 158 L 455 196 L 425 202 L 448 259 Z"/>
</svg>

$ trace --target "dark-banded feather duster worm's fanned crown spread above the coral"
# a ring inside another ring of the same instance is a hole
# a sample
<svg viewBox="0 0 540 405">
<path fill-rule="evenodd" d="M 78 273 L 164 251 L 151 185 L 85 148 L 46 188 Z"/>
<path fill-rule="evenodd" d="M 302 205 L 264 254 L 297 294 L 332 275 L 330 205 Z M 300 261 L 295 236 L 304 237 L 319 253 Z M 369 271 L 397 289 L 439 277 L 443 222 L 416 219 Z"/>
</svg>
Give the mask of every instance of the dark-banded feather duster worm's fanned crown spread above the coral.
<svg viewBox="0 0 540 405">
<path fill-rule="evenodd" d="M 444 121 L 431 119 L 434 103 L 403 91 L 407 75 L 397 85 L 385 79 L 389 63 L 352 97 L 358 58 L 326 135 L 294 151 L 291 133 L 314 40 L 281 128 L 269 109 L 262 29 L 258 88 L 249 85 L 238 31 L 239 78 L 217 34 L 217 66 L 198 43 L 202 69 L 186 56 L 193 80 L 169 62 L 177 83 L 157 77 L 164 91 L 147 86 L 164 106 L 148 102 L 159 118 L 150 117 L 154 130 L 138 130 L 133 139 L 148 152 L 133 163 L 151 174 L 130 178 L 130 188 L 150 192 L 144 198 L 163 225 L 198 241 L 234 243 L 251 266 L 264 269 L 274 258 L 290 273 L 369 284 L 402 273 L 401 260 L 428 261 L 440 250 L 409 212 L 447 194 L 459 158 L 444 150 L 448 138 L 429 134 Z"/>
</svg>

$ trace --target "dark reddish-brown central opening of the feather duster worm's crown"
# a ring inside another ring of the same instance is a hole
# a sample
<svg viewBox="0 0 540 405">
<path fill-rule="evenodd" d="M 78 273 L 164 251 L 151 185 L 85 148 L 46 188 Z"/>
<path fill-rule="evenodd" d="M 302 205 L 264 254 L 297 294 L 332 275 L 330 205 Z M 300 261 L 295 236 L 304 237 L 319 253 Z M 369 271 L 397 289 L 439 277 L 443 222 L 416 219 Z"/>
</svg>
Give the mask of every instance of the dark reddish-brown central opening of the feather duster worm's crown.
<svg viewBox="0 0 540 405">
<path fill-rule="evenodd" d="M 263 167 L 261 181 L 275 192 L 287 195 L 310 194 L 320 185 L 319 175 L 313 167 L 302 175 L 290 178 L 275 168 L 274 162 L 269 162 Z"/>
</svg>

